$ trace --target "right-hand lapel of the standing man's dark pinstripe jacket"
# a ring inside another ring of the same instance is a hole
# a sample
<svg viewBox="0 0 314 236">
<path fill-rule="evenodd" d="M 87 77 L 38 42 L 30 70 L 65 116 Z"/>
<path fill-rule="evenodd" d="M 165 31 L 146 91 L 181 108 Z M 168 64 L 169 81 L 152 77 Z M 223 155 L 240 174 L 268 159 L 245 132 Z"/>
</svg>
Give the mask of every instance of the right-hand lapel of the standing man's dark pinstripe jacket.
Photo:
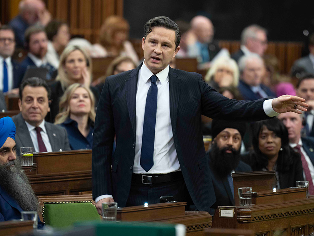
<svg viewBox="0 0 314 236">
<path fill-rule="evenodd" d="M 175 70 L 169 67 L 170 119 L 172 132 L 176 131 L 176 120 L 178 114 L 180 91 L 181 91 L 181 78 L 178 78 Z"/>
</svg>

